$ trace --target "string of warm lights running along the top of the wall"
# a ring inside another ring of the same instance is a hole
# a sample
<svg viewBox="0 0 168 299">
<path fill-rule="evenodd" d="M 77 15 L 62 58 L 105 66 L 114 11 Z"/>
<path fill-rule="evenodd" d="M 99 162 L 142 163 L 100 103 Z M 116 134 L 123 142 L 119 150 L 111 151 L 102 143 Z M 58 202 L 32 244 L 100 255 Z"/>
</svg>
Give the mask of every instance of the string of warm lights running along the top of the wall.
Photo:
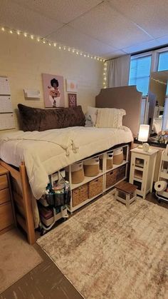
<svg viewBox="0 0 168 299">
<path fill-rule="evenodd" d="M 6 31 L 6 33 L 9 33 L 9 34 L 17 34 L 17 35 L 23 35 L 25 37 L 28 37 L 29 39 L 32 39 L 32 40 L 36 40 L 38 42 L 41 42 L 42 44 L 47 44 L 49 46 L 54 46 L 56 47 L 56 42 L 52 42 L 52 41 L 49 41 L 47 39 L 43 39 L 42 37 L 39 37 L 39 36 L 33 36 L 33 34 L 28 34 L 24 31 L 20 31 L 20 30 L 14 30 L 14 29 L 9 29 L 7 27 L 1 27 L 1 31 Z M 98 57 L 98 56 L 91 56 L 90 54 L 86 53 L 86 54 L 83 54 L 83 52 L 80 52 L 79 50 L 75 49 L 75 48 L 70 48 L 70 47 L 67 47 L 67 46 L 63 46 L 63 45 L 60 45 L 58 46 L 59 50 L 64 50 L 64 51 L 71 51 L 71 53 L 74 53 L 76 55 L 80 55 L 80 56 L 84 56 L 84 57 L 88 57 L 90 59 L 95 59 L 97 61 L 100 61 L 100 62 L 105 62 L 105 59 L 101 58 L 101 57 Z M 104 69 L 105 71 L 105 69 Z"/>
</svg>

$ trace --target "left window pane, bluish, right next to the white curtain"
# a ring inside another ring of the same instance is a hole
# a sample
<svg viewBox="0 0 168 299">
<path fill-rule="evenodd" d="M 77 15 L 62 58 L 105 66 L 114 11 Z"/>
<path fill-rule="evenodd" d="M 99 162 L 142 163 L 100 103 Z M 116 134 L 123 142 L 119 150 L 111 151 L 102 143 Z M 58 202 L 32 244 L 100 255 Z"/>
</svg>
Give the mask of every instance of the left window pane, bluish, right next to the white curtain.
<svg viewBox="0 0 168 299">
<path fill-rule="evenodd" d="M 142 96 L 147 96 L 149 88 L 149 74 L 151 55 L 131 58 L 129 85 L 136 85 Z"/>
</svg>

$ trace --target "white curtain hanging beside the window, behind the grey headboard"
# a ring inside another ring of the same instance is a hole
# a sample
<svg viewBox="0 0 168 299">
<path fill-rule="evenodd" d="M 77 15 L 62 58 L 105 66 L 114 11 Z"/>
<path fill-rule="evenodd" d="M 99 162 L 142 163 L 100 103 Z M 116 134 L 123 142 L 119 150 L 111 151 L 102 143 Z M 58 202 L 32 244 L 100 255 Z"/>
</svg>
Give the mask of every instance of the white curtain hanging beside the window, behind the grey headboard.
<svg viewBox="0 0 168 299">
<path fill-rule="evenodd" d="M 107 61 L 107 87 L 127 86 L 130 73 L 130 55 Z"/>
</svg>

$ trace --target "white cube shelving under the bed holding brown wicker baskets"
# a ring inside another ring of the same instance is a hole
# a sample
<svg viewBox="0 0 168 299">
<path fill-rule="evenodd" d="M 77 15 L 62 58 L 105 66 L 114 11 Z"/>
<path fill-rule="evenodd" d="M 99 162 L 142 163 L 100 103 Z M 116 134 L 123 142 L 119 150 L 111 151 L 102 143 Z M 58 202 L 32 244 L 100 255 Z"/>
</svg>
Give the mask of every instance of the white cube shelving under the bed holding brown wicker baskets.
<svg viewBox="0 0 168 299">
<path fill-rule="evenodd" d="M 116 149 L 123 148 L 123 153 L 124 153 L 124 161 L 120 164 L 113 164 L 112 168 L 107 169 L 107 154 L 113 152 Z M 94 157 L 99 157 L 102 159 L 102 169 L 100 169 L 99 173 L 97 176 L 85 176 L 84 180 L 81 183 L 72 183 L 72 178 L 71 178 L 71 165 L 68 166 L 68 172 L 66 173 L 66 179 L 70 182 L 70 188 L 71 188 L 71 198 L 70 198 L 70 205 L 67 206 L 68 211 L 71 213 L 78 208 L 84 206 L 86 203 L 89 203 L 90 201 L 93 201 L 94 198 L 102 195 L 105 193 L 105 191 L 109 190 L 110 188 L 114 187 L 117 183 L 120 181 L 125 180 L 127 178 L 127 163 L 128 163 L 128 156 L 129 156 L 129 145 L 124 144 L 122 146 L 118 146 L 117 148 L 115 147 L 112 150 L 105 151 L 100 154 L 96 154 L 92 156 L 91 158 Z M 90 159 L 85 158 L 83 161 L 86 161 Z M 96 187 L 96 184 L 98 186 L 98 189 Z M 93 187 L 92 187 L 93 186 Z M 95 188 L 92 192 L 90 190 L 91 188 Z M 98 192 L 97 192 L 98 190 Z M 91 191 L 91 192 L 90 192 Z M 73 196 L 75 196 L 75 192 L 79 192 L 79 203 L 74 203 Z M 93 194 L 92 197 L 90 197 L 90 193 Z M 95 194 L 94 194 L 95 193 Z"/>
</svg>

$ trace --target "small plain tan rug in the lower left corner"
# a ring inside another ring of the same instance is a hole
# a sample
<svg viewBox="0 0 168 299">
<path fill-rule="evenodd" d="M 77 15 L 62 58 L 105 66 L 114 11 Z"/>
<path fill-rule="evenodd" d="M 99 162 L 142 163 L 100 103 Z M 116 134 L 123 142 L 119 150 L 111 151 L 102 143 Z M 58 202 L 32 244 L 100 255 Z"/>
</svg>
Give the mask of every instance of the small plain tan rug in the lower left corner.
<svg viewBox="0 0 168 299">
<path fill-rule="evenodd" d="M 18 230 L 0 235 L 0 293 L 42 261 Z"/>
</svg>

